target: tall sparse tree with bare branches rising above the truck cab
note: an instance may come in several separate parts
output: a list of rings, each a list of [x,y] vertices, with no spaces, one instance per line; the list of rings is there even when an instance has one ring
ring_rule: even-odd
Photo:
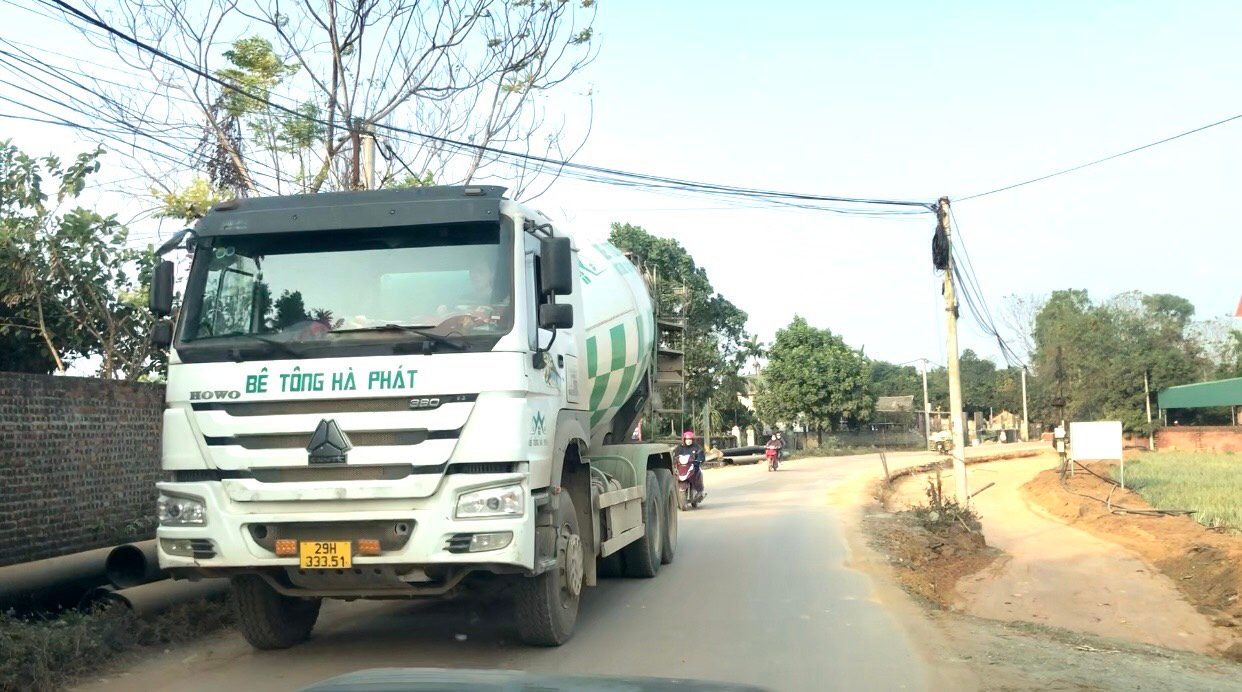
[[[493,175],[520,195],[559,171],[497,150],[568,159],[590,130],[570,137],[545,96],[594,60],[596,0],[117,5],[89,12],[185,63],[79,25],[134,71],[129,87],[92,84],[88,106],[142,148],[166,145],[135,158],[161,189],[188,163],[230,195],[354,189],[374,132],[385,181]],[[197,140],[193,159],[169,139]]]

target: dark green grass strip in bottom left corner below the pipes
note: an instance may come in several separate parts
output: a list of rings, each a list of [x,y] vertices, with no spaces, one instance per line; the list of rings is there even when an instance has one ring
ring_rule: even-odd
[[[123,608],[55,617],[0,612],[0,692],[63,690],[120,655],[190,641],[231,622],[227,601],[188,603],[147,619]]]

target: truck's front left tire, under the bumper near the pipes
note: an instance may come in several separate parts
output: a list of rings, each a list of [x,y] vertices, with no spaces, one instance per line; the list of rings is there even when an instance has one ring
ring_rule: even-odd
[[[237,627],[255,649],[288,649],[310,639],[319,619],[319,599],[286,596],[262,576],[243,574],[231,580]]]

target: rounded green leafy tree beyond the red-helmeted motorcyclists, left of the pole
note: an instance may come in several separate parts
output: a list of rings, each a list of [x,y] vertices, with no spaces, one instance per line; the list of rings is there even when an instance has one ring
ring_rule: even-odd
[[[869,384],[871,364],[862,353],[794,317],[776,332],[755,404],[765,422],[805,422],[822,444],[825,427],[868,420],[876,407]]]

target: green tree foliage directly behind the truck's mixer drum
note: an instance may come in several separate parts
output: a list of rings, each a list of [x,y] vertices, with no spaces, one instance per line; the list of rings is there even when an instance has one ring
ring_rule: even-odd
[[[612,224],[612,245],[642,258],[656,277],[653,299],[662,316],[686,317],[686,399],[689,411],[699,411],[710,399],[712,407],[737,411],[737,395],[745,393],[738,375],[749,352],[746,313],[715,292],[707,271],[679,242],[658,237],[638,226]],[[730,426],[732,417],[724,422]]]

